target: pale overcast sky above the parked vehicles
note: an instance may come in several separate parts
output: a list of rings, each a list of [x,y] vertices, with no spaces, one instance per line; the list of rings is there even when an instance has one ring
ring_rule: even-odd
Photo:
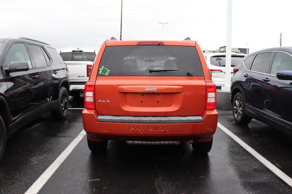
[[[121,0],[0,0],[0,37],[28,37],[60,49],[94,49],[120,36]],[[183,40],[226,45],[226,0],[124,0],[122,40]],[[233,0],[232,47],[292,46],[292,1]]]

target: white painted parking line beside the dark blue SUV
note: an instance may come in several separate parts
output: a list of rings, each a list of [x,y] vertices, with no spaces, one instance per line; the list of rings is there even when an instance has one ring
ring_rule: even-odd
[[[227,135],[229,135],[232,139],[234,139],[239,145],[241,145],[246,151],[248,151],[251,155],[253,155],[256,159],[258,159],[263,165],[265,165],[268,169],[274,172],[280,179],[282,179],[285,183],[292,187],[292,179],[288,177],[284,172],[282,172],[275,165],[270,163],[267,159],[265,159],[262,155],[260,155],[256,150],[252,149],[246,143],[244,143],[241,139],[239,139],[236,135],[234,135],[231,131],[226,129],[222,124],[218,123],[217,126],[222,129]]]

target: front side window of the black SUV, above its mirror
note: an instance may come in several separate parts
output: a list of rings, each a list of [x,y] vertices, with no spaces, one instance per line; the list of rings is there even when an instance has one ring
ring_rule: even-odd
[[[29,68],[32,68],[31,60],[23,43],[16,43],[10,47],[5,58],[5,66],[9,67],[12,61],[27,62]]]

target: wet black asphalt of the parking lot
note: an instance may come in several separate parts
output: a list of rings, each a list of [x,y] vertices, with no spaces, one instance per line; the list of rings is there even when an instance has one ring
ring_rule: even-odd
[[[83,98],[70,97],[70,108]],[[234,122],[220,111],[224,127],[292,177],[292,138],[262,122]],[[0,163],[0,192],[24,193],[83,130],[81,110],[65,120],[50,113],[16,132]],[[98,179],[98,180],[95,180]],[[93,180],[93,181],[92,181]],[[40,193],[291,193],[284,181],[220,128],[209,154],[195,155],[188,142],[142,146],[109,141],[107,152],[92,154],[84,137]]]

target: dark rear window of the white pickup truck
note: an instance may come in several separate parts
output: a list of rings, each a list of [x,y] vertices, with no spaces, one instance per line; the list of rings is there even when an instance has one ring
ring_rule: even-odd
[[[60,53],[64,61],[94,61],[95,52],[64,52]]]

